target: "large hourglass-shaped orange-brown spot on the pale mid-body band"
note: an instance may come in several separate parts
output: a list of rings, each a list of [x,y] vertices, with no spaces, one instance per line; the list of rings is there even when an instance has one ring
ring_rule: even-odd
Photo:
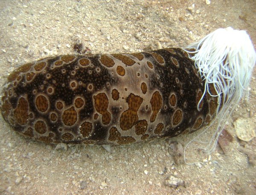
[[[130,129],[138,121],[137,111],[143,99],[140,96],[130,94],[126,99],[129,109],[122,113],[120,117],[120,127],[122,130]]]

